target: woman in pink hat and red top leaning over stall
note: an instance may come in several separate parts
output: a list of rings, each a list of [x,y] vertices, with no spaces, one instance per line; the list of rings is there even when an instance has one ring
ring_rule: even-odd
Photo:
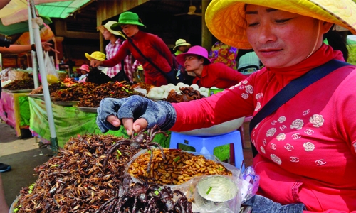
[[[194,72],[196,77],[193,84],[198,84],[199,87],[226,89],[246,79],[246,75],[221,62],[211,63],[208,56],[208,51],[201,46],[193,46],[187,53],[177,55],[177,62],[187,72]]]

